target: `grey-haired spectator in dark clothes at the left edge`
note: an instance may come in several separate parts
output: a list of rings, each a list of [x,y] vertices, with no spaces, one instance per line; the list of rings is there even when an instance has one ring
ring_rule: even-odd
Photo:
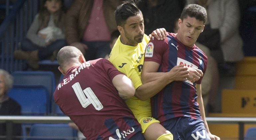
[[[21,106],[7,95],[12,85],[13,77],[7,71],[0,69],[0,115],[21,115]],[[12,134],[21,136],[21,124],[13,125]],[[0,123],[0,136],[5,135],[6,124]]]

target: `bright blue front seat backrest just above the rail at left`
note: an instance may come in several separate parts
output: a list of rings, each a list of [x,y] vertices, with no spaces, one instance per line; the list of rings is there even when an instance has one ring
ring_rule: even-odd
[[[22,115],[50,113],[49,93],[42,85],[14,85],[7,94],[21,105]]]

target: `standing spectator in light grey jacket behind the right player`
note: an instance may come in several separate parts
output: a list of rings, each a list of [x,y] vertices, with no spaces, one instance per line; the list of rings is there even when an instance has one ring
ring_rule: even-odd
[[[215,112],[215,95],[219,77],[234,76],[235,64],[243,59],[243,41],[239,34],[240,10],[237,0],[187,0],[187,4],[199,4],[208,13],[204,31],[197,42],[210,49],[213,65],[212,84],[209,91],[208,111]]]

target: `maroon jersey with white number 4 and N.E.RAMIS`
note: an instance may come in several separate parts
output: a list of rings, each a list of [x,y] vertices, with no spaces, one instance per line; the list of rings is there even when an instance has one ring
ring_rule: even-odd
[[[72,67],[56,87],[54,100],[86,139],[127,140],[141,126],[119,97],[112,79],[119,72],[100,58]]]

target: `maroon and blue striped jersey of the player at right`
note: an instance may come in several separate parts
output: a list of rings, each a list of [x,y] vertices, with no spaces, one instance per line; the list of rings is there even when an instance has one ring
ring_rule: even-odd
[[[158,72],[168,72],[176,65],[185,64],[204,73],[207,66],[204,52],[196,45],[183,45],[174,33],[167,33],[167,38],[162,41],[152,38],[146,48],[145,61],[159,63]],[[201,81],[202,77],[195,83],[188,80],[171,82],[151,98],[153,117],[160,122],[180,116],[201,120],[195,87]]]

